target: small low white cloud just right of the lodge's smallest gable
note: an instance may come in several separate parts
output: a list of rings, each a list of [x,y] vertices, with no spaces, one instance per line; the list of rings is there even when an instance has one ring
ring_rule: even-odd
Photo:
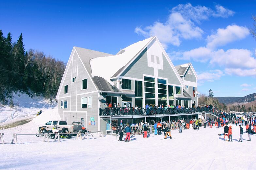
[[[205,81],[213,82],[214,80],[218,80],[223,75],[224,74],[221,70],[210,70],[209,72],[202,72],[198,74],[198,79],[199,82],[202,84]]]

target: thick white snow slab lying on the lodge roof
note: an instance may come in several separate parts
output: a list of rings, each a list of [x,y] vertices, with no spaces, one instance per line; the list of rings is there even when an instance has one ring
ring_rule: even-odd
[[[110,78],[123,66],[125,66],[146,44],[154,37],[134,43],[126,48],[124,52],[115,56],[98,57],[90,60],[91,76],[99,76],[107,80],[111,85],[114,83]],[[100,69],[99,69],[100,68]]]

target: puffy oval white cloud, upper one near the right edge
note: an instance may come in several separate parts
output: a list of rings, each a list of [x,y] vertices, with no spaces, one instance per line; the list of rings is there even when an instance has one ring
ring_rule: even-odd
[[[249,34],[246,27],[238,25],[229,25],[225,29],[219,28],[216,33],[207,36],[207,48],[224,46],[235,40],[241,40]]]

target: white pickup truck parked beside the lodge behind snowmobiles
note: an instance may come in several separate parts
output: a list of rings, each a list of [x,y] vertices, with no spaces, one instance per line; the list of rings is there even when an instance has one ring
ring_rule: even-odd
[[[44,128],[46,128],[46,130],[52,130],[55,126],[59,126],[60,129],[62,129],[63,127],[65,129],[68,129],[68,132],[82,132],[82,125],[78,125],[78,124],[67,124],[66,121],[60,121],[60,120],[52,120],[47,122],[46,124],[39,124],[38,125],[38,132],[41,131],[42,126],[44,126]],[[45,127],[46,126],[46,127]]]

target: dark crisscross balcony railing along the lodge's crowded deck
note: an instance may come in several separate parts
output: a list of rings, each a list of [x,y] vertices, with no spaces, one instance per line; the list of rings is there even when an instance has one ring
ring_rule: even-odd
[[[155,114],[186,114],[212,112],[212,108],[99,108],[100,116],[136,116],[136,115],[155,115]]]

